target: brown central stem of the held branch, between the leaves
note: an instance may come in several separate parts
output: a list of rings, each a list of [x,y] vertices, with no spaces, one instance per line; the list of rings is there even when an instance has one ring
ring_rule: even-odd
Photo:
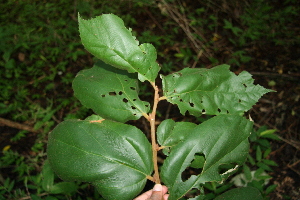
[[[155,85],[154,82],[150,82],[152,87],[154,88],[154,102],[153,102],[153,109],[152,113],[149,114],[149,122],[151,127],[151,143],[152,143],[152,159],[153,159],[153,166],[154,166],[154,182],[160,183],[159,172],[158,172],[158,165],[157,165],[157,151],[159,150],[158,144],[156,143],[156,131],[155,131],[155,115],[157,104],[159,102],[159,94],[158,94],[158,87]]]

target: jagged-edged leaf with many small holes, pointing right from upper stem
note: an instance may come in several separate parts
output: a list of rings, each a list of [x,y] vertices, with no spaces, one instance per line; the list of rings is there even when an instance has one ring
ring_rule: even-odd
[[[248,72],[236,76],[229,65],[212,69],[185,68],[162,79],[167,101],[177,104],[181,114],[189,111],[195,116],[241,114],[271,91],[254,85]]]

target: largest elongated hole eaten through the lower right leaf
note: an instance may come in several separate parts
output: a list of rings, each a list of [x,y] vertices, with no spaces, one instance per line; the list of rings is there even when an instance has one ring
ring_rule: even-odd
[[[203,153],[196,153],[190,166],[181,173],[182,181],[188,180],[192,175],[200,174],[205,164],[205,160],[205,155]]]

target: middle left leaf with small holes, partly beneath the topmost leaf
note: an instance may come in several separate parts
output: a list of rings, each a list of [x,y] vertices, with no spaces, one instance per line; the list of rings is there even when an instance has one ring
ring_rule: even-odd
[[[80,71],[73,81],[74,95],[87,108],[105,119],[126,122],[149,111],[149,103],[138,97],[134,74],[103,62]]]

